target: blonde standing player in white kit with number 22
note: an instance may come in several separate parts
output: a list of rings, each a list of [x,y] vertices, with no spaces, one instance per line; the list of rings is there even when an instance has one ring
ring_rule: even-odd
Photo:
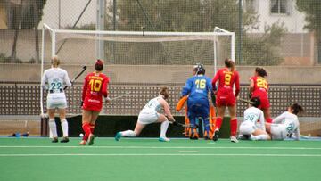
[[[63,86],[71,86],[70,78],[66,70],[59,68],[60,60],[58,56],[51,59],[52,67],[45,70],[41,80],[41,86],[47,90],[47,111],[49,115],[49,128],[53,134],[53,143],[58,142],[57,128],[54,122],[54,112],[58,109],[62,125],[62,143],[69,142],[68,122],[66,120],[67,101],[63,91]],[[46,86],[46,84],[48,86]]]

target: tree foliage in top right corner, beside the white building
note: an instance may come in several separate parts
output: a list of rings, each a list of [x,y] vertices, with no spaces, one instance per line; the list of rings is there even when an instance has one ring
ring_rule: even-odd
[[[321,2],[319,0],[297,0],[296,5],[300,12],[306,14],[305,20],[307,24],[305,29],[315,32],[317,47],[321,46]],[[317,53],[317,56],[320,63],[321,54],[319,53]]]

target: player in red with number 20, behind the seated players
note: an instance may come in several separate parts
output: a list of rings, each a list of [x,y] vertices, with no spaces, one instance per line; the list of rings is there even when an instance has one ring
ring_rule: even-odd
[[[268,73],[263,68],[257,67],[254,76],[250,78],[250,98],[258,97],[259,109],[263,111],[266,122],[271,123],[270,103],[268,101],[268,81],[265,79]]]

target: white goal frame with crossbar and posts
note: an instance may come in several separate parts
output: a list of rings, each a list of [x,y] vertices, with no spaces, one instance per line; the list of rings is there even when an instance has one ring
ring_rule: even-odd
[[[48,36],[45,36],[49,32],[50,37],[48,39]],[[222,40],[222,38],[225,38]],[[45,41],[46,38],[46,41]],[[46,59],[50,59],[49,56],[53,56],[57,53],[57,49],[60,49],[62,47],[62,41],[65,40],[75,40],[80,39],[79,42],[82,42],[84,40],[86,41],[93,41],[95,44],[91,44],[90,46],[87,45],[86,47],[93,48],[94,51],[98,51],[96,47],[93,47],[96,45],[97,41],[104,41],[104,42],[112,42],[112,43],[140,43],[140,44],[150,44],[150,43],[158,43],[161,45],[170,44],[172,42],[201,42],[201,41],[207,41],[210,43],[207,43],[205,48],[209,49],[206,53],[211,53],[211,55],[208,55],[210,57],[210,61],[213,64],[213,70],[216,72],[218,69],[218,60],[221,60],[223,57],[231,58],[232,60],[235,60],[235,33],[227,31],[226,29],[220,29],[216,27],[213,32],[157,32],[157,31],[98,31],[98,30],[76,30],[76,29],[53,29],[47,24],[43,24],[42,29],[42,44],[41,44],[41,77],[43,76],[44,71],[44,65],[48,64],[49,62],[45,62]],[[50,42],[48,42],[50,41]],[[58,47],[58,44],[60,44],[60,47]],[[210,45],[211,44],[211,45]],[[75,46],[81,46],[82,43],[75,44]],[[51,46],[50,48],[48,48]],[[170,45],[167,49],[165,49],[165,52],[169,53],[171,55],[172,52],[170,52],[175,45]],[[184,45],[180,45],[184,46]],[[190,46],[187,45],[186,46]],[[147,45],[148,47],[148,45]],[[197,45],[195,45],[197,47]],[[49,50],[48,50],[49,49]],[[66,48],[67,49],[67,48]],[[126,49],[126,48],[124,48]],[[184,47],[183,50],[180,53],[184,53]],[[228,50],[227,50],[228,49]],[[70,49],[68,49],[69,51]],[[66,51],[67,53],[69,53]],[[188,52],[189,50],[186,50],[185,52]],[[46,52],[46,53],[45,53]],[[49,53],[50,52],[50,55]],[[193,51],[190,51],[192,54]],[[148,53],[153,53],[152,51],[149,51]],[[220,53],[224,55],[220,56]],[[202,54],[202,53],[200,53]],[[78,54],[77,54],[78,55]],[[197,57],[199,54],[195,54]],[[58,53],[58,56],[61,57],[61,53]],[[93,57],[96,57],[96,53]],[[78,59],[81,59],[81,55],[78,55]],[[67,58],[65,58],[67,59]],[[197,59],[197,58],[195,58]],[[68,59],[70,61],[70,59]],[[174,61],[176,64],[179,64],[180,61],[185,61],[185,57],[179,57],[179,53],[176,53],[175,55],[171,55],[170,61]],[[198,59],[202,60],[202,59]],[[150,63],[150,61],[145,61]],[[75,64],[70,62],[71,64]],[[78,64],[87,64],[87,62],[78,62]],[[131,62],[133,63],[133,62]],[[135,63],[135,62],[134,62]],[[169,62],[170,65],[171,62]],[[192,62],[189,62],[192,64]],[[201,62],[202,63],[202,62]],[[211,64],[210,63],[210,64]],[[123,62],[122,64],[132,65],[130,63]],[[157,63],[156,63],[157,64]],[[140,65],[144,65],[144,62],[141,62]],[[184,65],[184,63],[182,63]],[[44,105],[43,105],[43,90],[40,87],[40,105],[41,105],[41,113],[44,113]]]

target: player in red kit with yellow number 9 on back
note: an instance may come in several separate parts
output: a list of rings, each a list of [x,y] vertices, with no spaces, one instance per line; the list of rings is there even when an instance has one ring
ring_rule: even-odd
[[[218,70],[215,77],[212,79],[212,86],[215,87],[218,81],[218,91],[216,104],[218,107],[218,118],[216,120],[216,129],[213,136],[213,141],[218,141],[219,129],[221,128],[223,117],[226,107],[231,117],[231,142],[237,143],[236,131],[237,131],[237,119],[236,119],[236,98],[240,92],[240,77],[235,70],[235,62],[231,59],[224,61],[225,68]],[[235,85],[235,94],[233,86]]]

